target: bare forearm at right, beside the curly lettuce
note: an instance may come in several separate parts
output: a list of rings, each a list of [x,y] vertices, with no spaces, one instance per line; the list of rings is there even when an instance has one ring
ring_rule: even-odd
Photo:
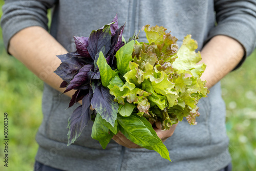
[[[201,51],[202,60],[207,67],[201,76],[210,89],[234,69],[244,56],[244,48],[237,41],[224,35],[212,37]]]

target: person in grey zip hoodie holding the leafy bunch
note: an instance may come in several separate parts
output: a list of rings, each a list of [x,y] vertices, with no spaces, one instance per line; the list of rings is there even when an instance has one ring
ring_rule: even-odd
[[[50,34],[49,8],[53,8]],[[74,92],[59,96],[63,89],[59,88],[61,78],[53,73],[60,64],[56,55],[75,51],[73,36],[89,36],[116,13],[119,24],[126,22],[125,39],[146,24],[168,28],[179,47],[183,37],[191,34],[198,42],[201,62],[207,65],[201,78],[210,93],[199,100],[198,124],[183,121],[170,131],[156,129],[172,162],[155,151],[136,148],[121,135],[114,138],[119,144],[111,140],[102,149],[91,138],[92,122],[67,146],[67,120],[79,104],[65,110]],[[45,82],[35,170],[231,169],[220,80],[240,67],[256,46],[255,1],[6,0],[1,26],[6,50]],[[146,41],[143,32],[139,40]]]

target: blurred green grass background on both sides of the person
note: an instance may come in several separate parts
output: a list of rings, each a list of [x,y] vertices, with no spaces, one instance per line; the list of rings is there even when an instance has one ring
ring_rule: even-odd
[[[0,16],[3,1],[0,1]],[[0,33],[2,33],[0,29]],[[233,170],[256,170],[256,51],[222,80]],[[0,36],[0,170],[33,170],[35,134],[42,119],[42,81],[4,50]],[[8,168],[3,164],[3,120],[8,113]],[[220,161],[221,162],[221,161]]]

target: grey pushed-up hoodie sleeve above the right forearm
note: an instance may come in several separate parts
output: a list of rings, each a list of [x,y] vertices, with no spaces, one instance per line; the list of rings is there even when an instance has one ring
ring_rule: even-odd
[[[256,47],[256,1],[215,0],[217,26],[210,30],[209,37],[226,35],[236,39],[245,49],[243,63]]]

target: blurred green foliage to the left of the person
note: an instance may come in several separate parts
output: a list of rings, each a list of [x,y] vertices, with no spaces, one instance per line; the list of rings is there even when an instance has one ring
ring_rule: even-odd
[[[2,16],[3,1],[0,1]],[[0,28],[1,29],[1,28]],[[38,145],[35,134],[42,120],[42,81],[22,63],[9,56],[0,37],[0,156],[3,151],[4,113],[8,113],[8,167],[1,160],[0,170],[33,170]],[[2,158],[3,159],[3,158]]]

